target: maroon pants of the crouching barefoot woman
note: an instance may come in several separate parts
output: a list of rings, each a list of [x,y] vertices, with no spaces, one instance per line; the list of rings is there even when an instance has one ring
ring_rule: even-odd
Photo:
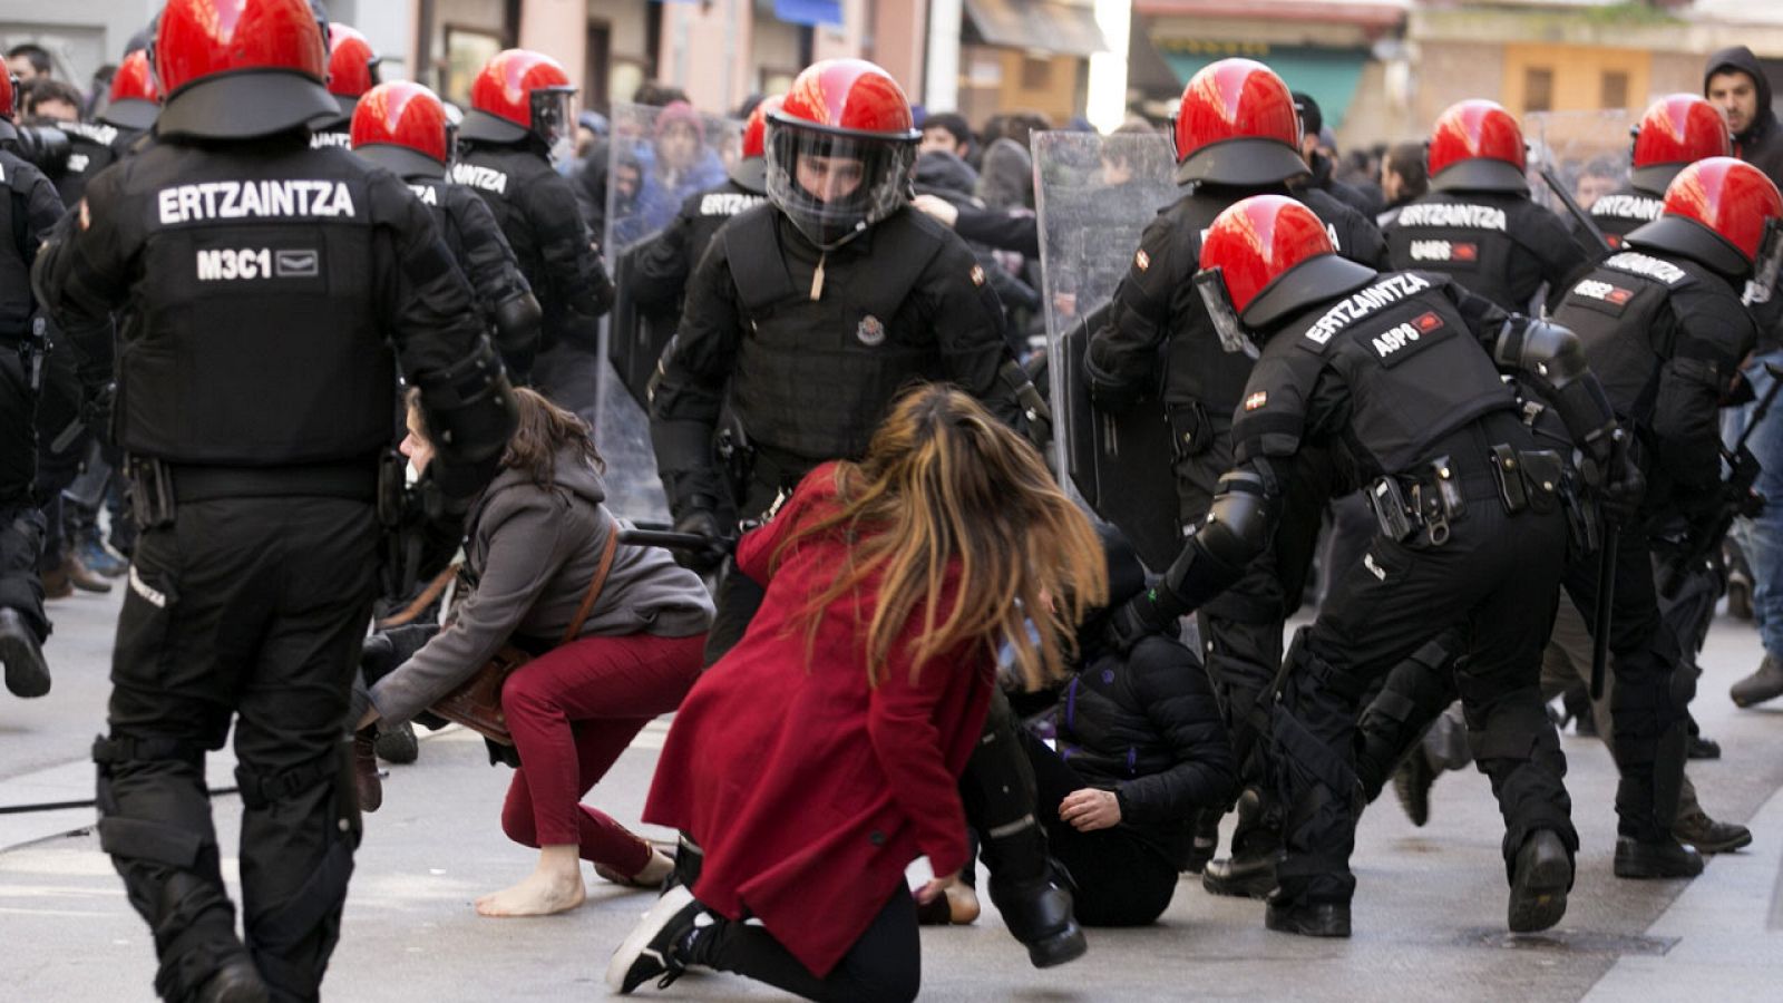
[[[574,842],[583,860],[637,875],[651,844],[581,803],[653,717],[681,705],[699,676],[706,635],[579,637],[519,669],[501,710],[522,766],[501,830],[524,846]]]

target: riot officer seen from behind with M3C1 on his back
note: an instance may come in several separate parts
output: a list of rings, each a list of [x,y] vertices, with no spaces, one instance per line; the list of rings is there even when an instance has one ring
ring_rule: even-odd
[[[358,842],[344,742],[374,593],[396,346],[446,509],[514,428],[501,361],[433,220],[389,171],[314,150],[339,114],[303,0],[173,0],[155,139],[93,178],[36,287],[112,371],[143,525],[94,742],[100,844],[169,999],[316,999]],[[244,939],[205,751],[234,719]]]

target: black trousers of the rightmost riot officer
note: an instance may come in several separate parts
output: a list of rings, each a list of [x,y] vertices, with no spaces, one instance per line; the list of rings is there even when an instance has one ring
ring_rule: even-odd
[[[1696,676],[1680,671],[1683,642],[1696,623],[1667,628],[1653,582],[1653,548],[1639,525],[1617,537],[1615,596],[1610,607],[1610,717],[1621,782],[1615,830],[1642,841],[1669,839],[1689,748],[1689,703]],[[1596,555],[1574,560],[1567,596],[1589,625],[1598,598]],[[1685,618],[1689,619],[1689,618]]]

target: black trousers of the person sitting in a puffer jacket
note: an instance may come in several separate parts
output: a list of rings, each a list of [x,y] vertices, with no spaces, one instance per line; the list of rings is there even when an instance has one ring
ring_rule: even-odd
[[[1061,819],[1059,801],[1093,785],[1027,730],[1022,730],[1022,746],[1034,764],[1036,810],[1047,826],[1052,857],[1077,885],[1072,896],[1077,921],[1084,926],[1155,923],[1177,894],[1177,864],[1125,825],[1079,832]]]

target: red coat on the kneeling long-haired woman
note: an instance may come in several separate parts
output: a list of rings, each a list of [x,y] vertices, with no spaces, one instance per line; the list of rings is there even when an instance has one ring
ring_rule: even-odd
[[[772,576],[768,557],[833,503],[826,464],[742,539],[736,564],[767,584],[767,598],[676,712],[644,808],[645,821],[688,832],[706,851],[699,901],[731,919],[760,917],[818,976],[867,932],[911,860],[927,855],[936,875],[970,864],[957,785],[995,678],[984,646],[974,646],[929,660],[911,685],[899,646],[868,687],[874,582],[859,605],[824,610],[806,662],[797,614],[834,580],[847,548],[836,535],[808,539]],[[920,618],[918,605],[911,623]]]

